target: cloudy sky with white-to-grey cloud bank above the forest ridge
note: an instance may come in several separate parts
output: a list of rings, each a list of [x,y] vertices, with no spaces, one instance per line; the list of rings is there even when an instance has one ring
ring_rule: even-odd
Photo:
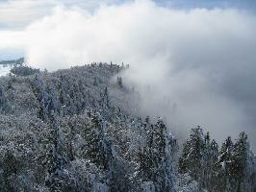
[[[255,1],[0,1],[0,60],[35,67],[130,64],[140,115],[223,141],[247,132],[256,149]]]

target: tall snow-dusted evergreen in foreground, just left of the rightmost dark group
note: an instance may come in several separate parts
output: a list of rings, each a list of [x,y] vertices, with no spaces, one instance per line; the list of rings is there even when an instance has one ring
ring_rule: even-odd
[[[147,145],[139,155],[141,180],[153,181],[156,191],[174,191],[171,146],[169,145],[171,142],[168,141],[166,125],[162,119],[151,127],[148,134]]]

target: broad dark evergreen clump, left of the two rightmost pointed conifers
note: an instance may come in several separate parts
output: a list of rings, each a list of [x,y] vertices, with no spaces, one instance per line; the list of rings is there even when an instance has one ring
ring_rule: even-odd
[[[217,160],[218,144],[215,140],[211,141],[210,133],[205,135],[199,126],[192,129],[179,159],[180,173],[189,174],[192,180],[196,180],[199,190],[205,188],[211,191],[218,179],[215,174]]]

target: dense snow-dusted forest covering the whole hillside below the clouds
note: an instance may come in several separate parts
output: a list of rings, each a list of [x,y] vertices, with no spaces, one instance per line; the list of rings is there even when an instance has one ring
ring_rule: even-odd
[[[182,143],[161,117],[127,110],[139,93],[126,67],[20,66],[1,77],[0,191],[256,191],[245,132],[218,146],[198,126]]]

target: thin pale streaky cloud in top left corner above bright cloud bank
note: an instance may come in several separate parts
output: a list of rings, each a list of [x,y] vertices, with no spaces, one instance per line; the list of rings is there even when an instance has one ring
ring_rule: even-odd
[[[56,7],[83,8],[93,12],[100,5],[117,0],[8,0],[0,1],[0,29],[22,29],[31,22],[48,15]]]

